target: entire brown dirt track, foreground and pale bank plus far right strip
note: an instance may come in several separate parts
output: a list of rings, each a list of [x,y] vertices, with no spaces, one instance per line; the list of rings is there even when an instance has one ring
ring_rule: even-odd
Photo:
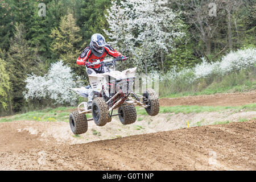
[[[245,105],[256,103],[255,98],[256,92],[216,94],[162,99],[160,105]],[[207,125],[214,119],[239,121],[240,117],[250,121],[178,129],[186,127],[187,118],[191,126],[196,126],[203,118],[207,118]],[[0,169],[256,170],[255,117],[255,111],[167,113],[127,126],[116,120],[104,127],[89,123],[88,132],[81,138],[73,136],[67,122],[0,123]],[[147,134],[134,129],[137,125],[147,127]],[[100,131],[101,136],[93,135],[92,129]],[[106,140],[109,133],[132,136]]]

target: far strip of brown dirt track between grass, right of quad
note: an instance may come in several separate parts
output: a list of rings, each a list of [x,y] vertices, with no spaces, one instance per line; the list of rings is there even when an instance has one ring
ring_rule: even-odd
[[[209,96],[186,96],[162,98],[160,106],[199,105],[199,106],[239,106],[256,103],[256,91],[243,93],[221,93]]]

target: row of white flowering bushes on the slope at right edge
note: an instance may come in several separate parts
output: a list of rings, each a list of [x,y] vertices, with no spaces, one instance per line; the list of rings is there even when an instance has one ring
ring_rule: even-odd
[[[238,72],[251,67],[256,67],[255,48],[232,51],[214,63],[208,63],[203,57],[202,62],[194,68],[182,69],[179,72],[173,68],[165,74],[160,73],[159,77],[160,82],[168,86],[170,90],[182,90],[183,88],[188,90],[201,78],[223,77],[234,71]]]

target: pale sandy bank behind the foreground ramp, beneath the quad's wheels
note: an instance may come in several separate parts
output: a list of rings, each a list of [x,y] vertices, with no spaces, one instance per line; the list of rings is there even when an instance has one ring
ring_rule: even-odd
[[[159,131],[170,131],[187,127],[212,125],[219,122],[239,122],[256,118],[256,111],[221,111],[204,113],[159,113],[154,117],[138,115],[131,125],[122,125],[118,117],[104,127],[88,122],[85,134],[74,135],[68,122],[14,121],[0,123],[0,151],[19,151],[37,148],[46,143],[81,144],[97,140],[129,137]]]

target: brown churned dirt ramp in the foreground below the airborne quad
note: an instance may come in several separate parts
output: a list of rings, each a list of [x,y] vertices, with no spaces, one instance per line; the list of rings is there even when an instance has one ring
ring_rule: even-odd
[[[8,123],[2,124],[7,126]],[[16,133],[8,131],[3,134],[2,124],[0,138],[3,135],[6,135],[6,138],[1,139],[0,146],[7,142],[13,143],[14,146],[8,150],[5,150],[5,147],[0,148],[0,169],[256,169],[255,120],[83,144],[57,144],[52,137],[49,137],[48,141],[42,140],[41,131],[35,131],[29,126],[27,130],[17,131],[15,128]],[[59,124],[56,122],[56,125]],[[19,144],[11,138],[20,138]],[[31,146],[29,143],[32,143]],[[23,144],[24,147],[20,147]]]

